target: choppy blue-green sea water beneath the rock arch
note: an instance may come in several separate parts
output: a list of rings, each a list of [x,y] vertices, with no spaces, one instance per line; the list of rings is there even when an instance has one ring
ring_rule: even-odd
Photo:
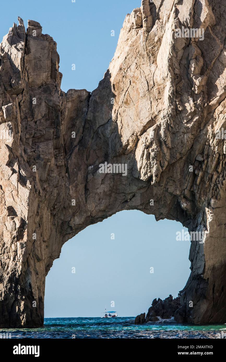
[[[173,319],[134,324],[135,317],[45,318],[43,328],[4,329],[11,338],[219,338],[226,325],[177,324]],[[225,334],[226,336],[226,334]]]

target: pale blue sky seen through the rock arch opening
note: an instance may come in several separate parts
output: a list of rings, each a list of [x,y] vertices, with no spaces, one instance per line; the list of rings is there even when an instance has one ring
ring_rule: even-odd
[[[105,306],[135,317],[155,298],[176,297],[190,274],[181,230],[138,210],[87,227],[63,245],[46,277],[45,317],[99,317]]]

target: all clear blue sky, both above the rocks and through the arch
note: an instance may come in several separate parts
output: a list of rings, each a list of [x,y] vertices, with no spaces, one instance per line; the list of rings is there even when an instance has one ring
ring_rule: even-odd
[[[5,1],[0,38],[13,22],[18,24],[17,16],[25,26],[28,19],[40,22],[42,32],[57,42],[62,90],[92,91],[114,56],[126,14],[140,4],[141,0]],[[154,298],[177,296],[190,273],[190,242],[176,241],[181,229],[180,223],[156,222],[153,215],[140,211],[122,211],[87,227],[63,246],[49,271],[45,317],[100,316],[105,305],[120,316],[136,316],[147,312]]]

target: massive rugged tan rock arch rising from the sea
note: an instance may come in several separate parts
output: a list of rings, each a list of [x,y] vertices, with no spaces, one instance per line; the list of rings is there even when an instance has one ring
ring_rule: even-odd
[[[204,39],[176,37],[182,26]],[[225,40],[223,0],[143,0],[98,88],[64,93],[56,42],[13,24],[0,45],[0,327],[41,327],[62,245],[131,209],[203,232],[175,317],[226,322]],[[100,173],[105,162],[127,174]]]

